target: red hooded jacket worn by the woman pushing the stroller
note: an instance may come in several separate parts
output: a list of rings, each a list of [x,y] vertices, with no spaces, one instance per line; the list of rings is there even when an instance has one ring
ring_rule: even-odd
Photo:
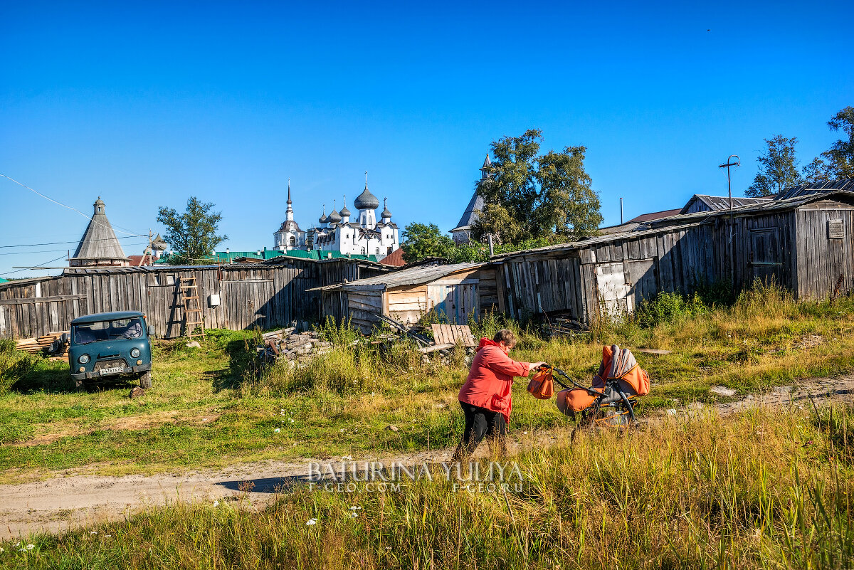
[[[500,412],[510,422],[513,376],[527,376],[529,363],[516,362],[494,340],[481,339],[471,372],[459,388],[459,401]]]

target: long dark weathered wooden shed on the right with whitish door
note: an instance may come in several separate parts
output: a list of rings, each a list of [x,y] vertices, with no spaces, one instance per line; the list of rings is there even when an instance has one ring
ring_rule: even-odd
[[[512,317],[590,323],[660,291],[775,281],[798,298],[854,289],[854,180],[801,186],[772,201],[652,221],[639,230],[496,256]],[[730,241],[730,230],[732,239]]]

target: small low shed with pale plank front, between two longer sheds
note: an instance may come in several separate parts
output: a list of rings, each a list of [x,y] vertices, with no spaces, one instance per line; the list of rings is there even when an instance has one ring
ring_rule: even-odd
[[[427,265],[317,290],[325,316],[351,318],[365,332],[379,323],[377,315],[414,324],[434,310],[450,323],[465,324],[470,317],[480,318],[483,311],[503,311],[496,267]]]

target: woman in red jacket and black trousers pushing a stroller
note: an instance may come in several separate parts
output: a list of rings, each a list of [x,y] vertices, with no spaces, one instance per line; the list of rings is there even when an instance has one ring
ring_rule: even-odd
[[[471,363],[469,377],[459,389],[459,405],[465,413],[463,440],[453,452],[452,461],[462,461],[475,451],[485,436],[506,453],[505,433],[512,408],[513,376],[527,376],[541,362],[517,362],[507,356],[516,337],[511,330],[495,333],[493,340],[484,337]]]

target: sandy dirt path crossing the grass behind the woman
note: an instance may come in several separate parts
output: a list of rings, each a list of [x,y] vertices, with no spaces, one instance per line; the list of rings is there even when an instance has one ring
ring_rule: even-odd
[[[806,407],[812,406],[810,396],[816,405],[822,405],[828,399],[854,401],[854,375],[814,378],[799,382],[795,387],[778,387],[767,394],[735,398],[731,402],[716,404],[715,408],[717,413],[728,416],[760,405],[792,403]],[[688,410],[670,410],[670,415],[690,415],[699,407],[694,405]],[[514,454],[531,445],[547,445],[551,439],[554,438],[550,434],[541,434],[535,442],[526,439],[524,444],[511,439],[510,452]],[[447,461],[451,451],[443,449],[402,456],[357,457],[356,460],[380,461],[386,465],[390,462],[420,465],[422,462]],[[336,457],[332,461],[340,465],[342,458]],[[0,486],[0,538],[18,537],[28,532],[61,532],[93,523],[120,521],[140,509],[176,501],[213,502],[241,496],[251,504],[262,506],[278,488],[306,481],[311,462],[319,463],[323,469],[330,460],[243,463],[220,471],[173,475],[75,475]]]

